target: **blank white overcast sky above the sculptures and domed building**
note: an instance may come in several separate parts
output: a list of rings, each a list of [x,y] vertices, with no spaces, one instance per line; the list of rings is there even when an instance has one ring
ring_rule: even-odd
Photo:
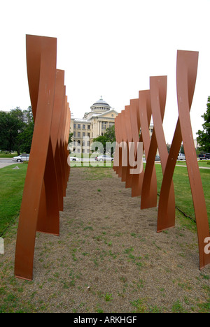
[[[178,117],[176,51],[199,51],[191,119],[193,134],[210,96],[210,0],[4,0],[0,4],[0,110],[30,106],[25,35],[57,38],[57,68],[65,71],[73,117],[103,99],[120,112],[167,75],[165,136]]]

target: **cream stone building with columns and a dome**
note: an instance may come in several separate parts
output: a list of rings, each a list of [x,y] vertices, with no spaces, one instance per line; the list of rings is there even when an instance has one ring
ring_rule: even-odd
[[[90,112],[85,112],[83,119],[71,117],[70,132],[73,133],[73,141],[81,145],[76,147],[77,153],[90,153],[92,140],[103,136],[106,129],[115,124],[115,118],[118,116],[118,112],[111,108],[102,96],[90,109]]]

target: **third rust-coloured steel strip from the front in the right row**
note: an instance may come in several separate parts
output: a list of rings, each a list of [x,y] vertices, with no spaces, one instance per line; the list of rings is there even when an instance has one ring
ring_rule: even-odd
[[[151,136],[149,126],[151,123],[151,95],[150,90],[139,91],[139,116],[141,122],[141,134],[144,143],[146,156],[146,166],[152,170],[151,178],[146,178],[144,172],[144,180],[141,191],[141,209],[153,208],[157,206],[157,179],[155,172],[155,161],[148,157],[151,147]],[[156,140],[155,137],[152,140]],[[156,145],[156,144],[155,144]],[[155,147],[152,143],[151,150]],[[146,170],[146,169],[145,169]],[[150,177],[150,176],[149,176]]]

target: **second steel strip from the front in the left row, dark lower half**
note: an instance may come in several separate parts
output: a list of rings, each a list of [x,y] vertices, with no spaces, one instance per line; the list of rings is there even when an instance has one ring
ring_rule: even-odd
[[[64,96],[64,71],[56,71],[55,96],[52,110],[52,124],[50,128],[50,143],[48,157],[45,166],[45,175],[42,189],[41,201],[45,201],[45,210],[39,210],[36,231],[59,235],[59,209],[62,204],[62,193],[60,193],[59,157],[55,156],[59,122],[61,117],[61,106]]]

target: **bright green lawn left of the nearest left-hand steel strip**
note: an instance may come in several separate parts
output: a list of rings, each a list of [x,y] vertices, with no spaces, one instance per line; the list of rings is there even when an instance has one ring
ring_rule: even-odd
[[[20,169],[13,170],[15,166],[0,169],[0,235],[20,211],[28,165],[21,164]]]

